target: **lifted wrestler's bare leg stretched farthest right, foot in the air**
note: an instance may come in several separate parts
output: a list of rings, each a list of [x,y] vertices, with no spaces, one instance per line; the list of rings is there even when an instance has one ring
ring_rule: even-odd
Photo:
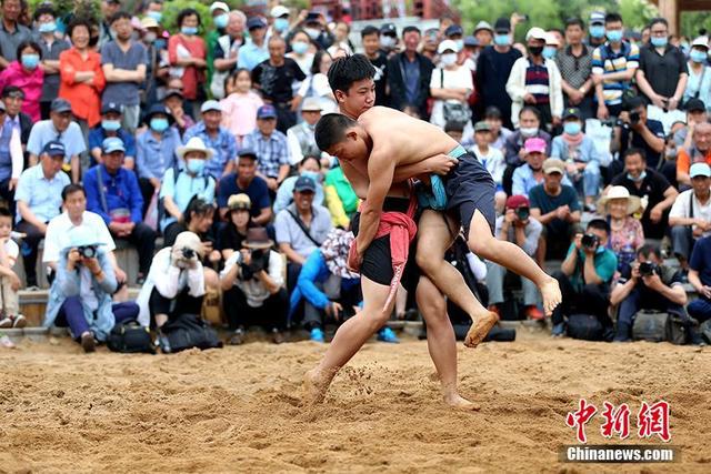
[[[495,239],[491,233],[489,222],[478,209],[471,218],[468,244],[469,249],[482,259],[505,266],[535,283],[543,296],[543,307],[547,315],[551,315],[555,306],[560,304],[562,296],[558,281],[541,270],[519,245]],[[471,331],[470,334],[472,334]],[[484,336],[485,334],[481,337]]]

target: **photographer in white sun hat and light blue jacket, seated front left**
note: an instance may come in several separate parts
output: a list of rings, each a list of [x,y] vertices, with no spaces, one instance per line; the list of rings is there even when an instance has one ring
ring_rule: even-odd
[[[134,302],[111,303],[117,289],[113,266],[94,232],[87,225],[71,229],[61,251],[57,278],[50,289],[43,326],[69,326],[84,352],[93,352],[117,323],[133,320]]]

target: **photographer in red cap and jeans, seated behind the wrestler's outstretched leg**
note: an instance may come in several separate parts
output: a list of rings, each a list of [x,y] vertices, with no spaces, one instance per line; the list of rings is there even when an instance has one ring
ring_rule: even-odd
[[[497,219],[497,238],[513,242],[525,253],[533,256],[538,250],[543,225],[531,219],[531,205],[524,195],[512,195],[507,200],[505,214]],[[507,269],[493,262],[487,262],[487,286],[489,288],[489,311],[500,314],[499,304],[503,303],[503,278]],[[538,307],[539,293],[535,284],[521,276],[525,316],[542,320],[543,312]]]

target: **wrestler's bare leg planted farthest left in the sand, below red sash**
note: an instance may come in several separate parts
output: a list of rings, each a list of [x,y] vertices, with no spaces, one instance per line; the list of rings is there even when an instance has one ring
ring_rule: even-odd
[[[390,286],[375,283],[362,275],[360,281],[363,290],[363,309],[341,324],[319,365],[306,374],[303,386],[307,403],[323,401],[326,391],[339,369],[346,365],[390,317],[393,302],[389,307],[383,309]]]

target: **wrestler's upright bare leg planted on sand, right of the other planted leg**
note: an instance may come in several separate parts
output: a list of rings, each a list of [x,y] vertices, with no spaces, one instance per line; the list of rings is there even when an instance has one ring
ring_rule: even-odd
[[[444,296],[427,276],[421,276],[415,297],[427,324],[427,346],[442,384],[444,403],[459,410],[479,410],[457,391],[457,339]]]

